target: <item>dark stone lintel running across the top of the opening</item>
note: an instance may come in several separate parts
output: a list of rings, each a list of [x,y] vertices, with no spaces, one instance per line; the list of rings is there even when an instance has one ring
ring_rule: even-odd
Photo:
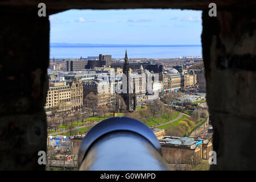
[[[1,1],[0,6],[6,7],[37,7],[41,0],[6,0]],[[213,1],[208,0],[44,0],[49,13],[56,13],[56,11],[65,11],[69,9],[142,9],[142,8],[158,8],[158,9],[191,9],[191,10],[206,10],[209,9],[209,3]],[[239,0],[216,0],[217,8],[224,9],[255,9],[256,2],[253,0],[239,1]],[[54,12],[55,11],[55,12]]]

